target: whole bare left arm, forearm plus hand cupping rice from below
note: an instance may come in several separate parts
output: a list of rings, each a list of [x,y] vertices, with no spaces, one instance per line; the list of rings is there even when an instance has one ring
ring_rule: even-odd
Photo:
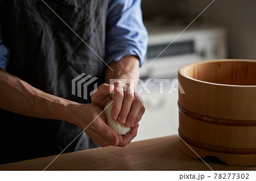
[[[100,107],[47,94],[1,69],[0,100],[0,108],[8,111],[45,119],[65,120],[82,129],[88,127],[85,132],[100,146],[126,146],[138,130],[137,126],[124,136],[118,136],[106,125],[106,117]]]

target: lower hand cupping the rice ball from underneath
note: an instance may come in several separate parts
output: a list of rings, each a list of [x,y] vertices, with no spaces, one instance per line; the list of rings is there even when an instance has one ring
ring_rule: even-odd
[[[85,129],[85,133],[93,139],[98,145],[104,146],[126,146],[137,135],[137,127],[131,128],[129,133],[125,135],[117,135],[117,133],[106,124],[105,114],[100,107],[93,104],[80,104],[74,110],[79,119],[79,127]],[[94,121],[93,121],[94,120]],[[93,121],[93,122],[92,122]],[[89,125],[89,126],[88,126]]]

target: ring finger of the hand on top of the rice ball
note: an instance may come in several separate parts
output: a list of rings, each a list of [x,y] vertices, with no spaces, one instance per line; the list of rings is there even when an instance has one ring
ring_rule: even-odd
[[[134,125],[134,122],[135,122],[142,106],[143,106],[143,101],[142,101],[141,97],[138,95],[135,95],[133,105],[131,106],[131,111],[130,111],[130,113],[127,117],[126,123],[125,123],[126,127],[131,127],[132,125]]]

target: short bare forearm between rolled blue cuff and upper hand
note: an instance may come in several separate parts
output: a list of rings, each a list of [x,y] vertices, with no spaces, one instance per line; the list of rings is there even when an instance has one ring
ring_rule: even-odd
[[[136,56],[125,56],[117,62],[112,62],[110,68],[106,69],[105,82],[110,83],[110,79],[130,79],[135,80],[135,87],[139,78],[139,60]]]

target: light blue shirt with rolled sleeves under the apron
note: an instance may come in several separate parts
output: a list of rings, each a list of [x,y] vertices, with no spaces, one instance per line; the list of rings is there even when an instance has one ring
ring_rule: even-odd
[[[105,47],[107,64],[126,55],[137,56],[140,66],[143,64],[147,50],[147,31],[142,22],[141,0],[109,1]],[[9,60],[10,50],[2,41],[0,24],[0,68],[6,70]]]

